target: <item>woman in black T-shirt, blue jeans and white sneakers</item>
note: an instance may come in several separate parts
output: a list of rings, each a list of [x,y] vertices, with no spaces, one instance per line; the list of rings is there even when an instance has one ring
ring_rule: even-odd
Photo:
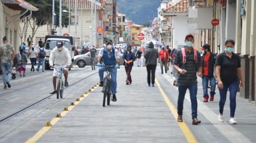
[[[223,108],[229,89],[230,124],[236,123],[234,116],[236,110],[236,92],[238,84],[240,89],[243,87],[241,62],[239,55],[234,53],[234,46],[234,40],[226,40],[225,51],[220,53],[216,59],[216,76],[218,78],[218,86],[220,91],[219,122],[224,122]],[[240,80],[237,78],[237,75]]]

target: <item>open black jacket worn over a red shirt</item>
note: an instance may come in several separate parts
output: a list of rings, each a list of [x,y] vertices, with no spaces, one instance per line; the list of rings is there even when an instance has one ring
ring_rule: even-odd
[[[215,76],[215,63],[216,63],[216,54],[215,53],[210,53],[210,57],[209,57],[209,67],[208,67],[208,76],[209,78],[213,78]],[[202,73],[203,73],[203,67],[204,67],[204,55],[202,56]]]

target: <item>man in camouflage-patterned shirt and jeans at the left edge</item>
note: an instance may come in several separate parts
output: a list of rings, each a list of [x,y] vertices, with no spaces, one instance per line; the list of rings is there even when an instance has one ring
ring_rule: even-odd
[[[16,52],[12,45],[8,44],[7,37],[3,38],[3,45],[0,45],[1,69],[3,75],[4,89],[11,88],[10,80],[12,78],[12,62]],[[6,80],[7,71],[7,80]]]

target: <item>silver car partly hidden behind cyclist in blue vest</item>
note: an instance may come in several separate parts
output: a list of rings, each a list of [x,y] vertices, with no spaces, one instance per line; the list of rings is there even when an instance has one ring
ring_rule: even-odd
[[[95,63],[97,63],[99,52],[100,52],[100,49],[97,49],[97,53],[96,53],[97,58],[95,58]],[[74,56],[74,65],[78,65],[78,67],[85,67],[86,65],[91,65],[91,58],[89,55],[90,55],[90,52],[87,52],[82,55]],[[123,57],[123,54],[120,53],[120,64],[119,65],[123,65],[122,57]]]

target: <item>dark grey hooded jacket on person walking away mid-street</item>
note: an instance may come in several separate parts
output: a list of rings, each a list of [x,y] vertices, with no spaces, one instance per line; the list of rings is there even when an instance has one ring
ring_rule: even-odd
[[[144,53],[144,58],[146,59],[146,65],[157,65],[158,52],[154,49],[153,42],[149,42],[148,49]]]

